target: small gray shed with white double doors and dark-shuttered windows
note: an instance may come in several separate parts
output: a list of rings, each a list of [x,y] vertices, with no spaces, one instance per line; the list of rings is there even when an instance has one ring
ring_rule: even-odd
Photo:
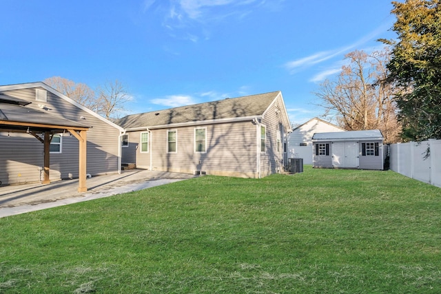
[[[384,169],[387,149],[378,129],[316,133],[313,167]]]

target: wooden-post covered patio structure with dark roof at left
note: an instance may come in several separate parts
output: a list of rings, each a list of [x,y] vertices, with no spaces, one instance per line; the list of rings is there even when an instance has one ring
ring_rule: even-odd
[[[28,101],[0,93],[0,132],[29,134],[43,144],[43,184],[50,183],[50,142],[54,134],[70,132],[72,136],[79,140],[78,191],[87,191],[86,132],[90,126],[27,107],[29,104]]]

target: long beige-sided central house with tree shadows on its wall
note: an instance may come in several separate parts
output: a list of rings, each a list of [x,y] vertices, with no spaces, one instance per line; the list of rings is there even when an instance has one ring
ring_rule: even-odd
[[[281,171],[291,132],[280,91],[133,114],[116,123],[126,130],[123,163],[244,178]]]

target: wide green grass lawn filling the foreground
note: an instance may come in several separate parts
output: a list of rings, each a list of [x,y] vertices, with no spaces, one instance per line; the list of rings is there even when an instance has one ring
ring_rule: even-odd
[[[0,293],[441,293],[441,189],[203,176],[0,219]]]

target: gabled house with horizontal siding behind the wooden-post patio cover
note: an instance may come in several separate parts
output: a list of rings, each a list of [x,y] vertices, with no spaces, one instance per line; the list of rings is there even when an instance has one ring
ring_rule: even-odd
[[[0,181],[2,185],[42,182],[44,136],[50,138],[50,180],[79,177],[79,133],[87,133],[85,171],[91,176],[116,173],[121,170],[119,147],[123,129],[92,110],[52,89],[45,83],[24,83],[0,86]],[[3,99],[3,100],[2,100]],[[9,101],[8,101],[9,100]],[[14,103],[14,104],[13,104]],[[11,106],[12,105],[12,106]],[[1,107],[8,114],[1,115]],[[8,115],[19,109],[23,120],[19,126],[8,127]],[[19,108],[21,107],[21,108]],[[25,119],[32,116],[35,120]],[[39,121],[41,120],[41,121]],[[43,121],[49,120],[49,121]],[[15,119],[15,121],[19,121]],[[63,122],[66,122],[63,124]],[[52,129],[41,129],[51,124]],[[68,127],[70,125],[71,127]],[[23,126],[27,129],[23,131]],[[39,129],[37,129],[39,127]],[[9,129],[8,129],[9,128]],[[87,132],[85,131],[87,129]],[[49,136],[50,135],[50,136]]]

